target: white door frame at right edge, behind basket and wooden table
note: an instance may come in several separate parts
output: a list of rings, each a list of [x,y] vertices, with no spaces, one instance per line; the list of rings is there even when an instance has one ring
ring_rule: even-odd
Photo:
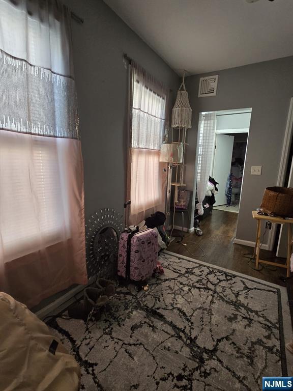
[[[276,186],[284,186],[292,134],[293,134],[293,97],[290,98],[290,105],[289,105],[286,130],[285,130],[285,136],[284,136],[284,142],[282,148],[282,155],[281,155],[281,161],[280,161]],[[273,224],[272,230],[269,231],[269,238],[268,238],[269,250],[272,250],[274,247],[275,238],[276,238],[276,229],[277,229],[276,224]]]

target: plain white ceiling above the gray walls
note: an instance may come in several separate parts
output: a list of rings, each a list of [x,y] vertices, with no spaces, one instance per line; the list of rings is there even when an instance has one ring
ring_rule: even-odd
[[[104,0],[176,72],[293,55],[293,0]]]

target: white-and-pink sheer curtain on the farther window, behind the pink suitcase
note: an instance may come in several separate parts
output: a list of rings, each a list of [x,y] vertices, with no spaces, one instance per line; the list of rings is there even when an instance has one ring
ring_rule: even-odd
[[[130,222],[165,210],[165,163],[159,162],[166,122],[167,90],[139,65],[132,63],[130,136]]]

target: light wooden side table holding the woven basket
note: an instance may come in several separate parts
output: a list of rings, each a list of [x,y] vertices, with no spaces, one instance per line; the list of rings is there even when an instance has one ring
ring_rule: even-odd
[[[252,217],[257,220],[256,240],[255,240],[255,247],[254,247],[254,253],[253,253],[253,258],[256,255],[255,268],[258,269],[259,263],[266,263],[267,265],[283,267],[283,268],[287,269],[287,277],[289,277],[289,275],[290,275],[290,258],[291,258],[291,252],[292,252],[293,219],[286,220],[282,217],[265,216],[262,214],[257,214],[256,210],[252,211]],[[270,262],[270,261],[265,261],[263,259],[259,259],[261,220],[271,221],[272,224],[288,224],[287,261],[285,264],[277,263],[277,262]]]

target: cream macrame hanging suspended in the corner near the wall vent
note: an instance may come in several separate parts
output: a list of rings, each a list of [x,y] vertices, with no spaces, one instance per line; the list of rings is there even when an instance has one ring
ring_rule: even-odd
[[[182,83],[177,92],[177,98],[172,109],[172,128],[191,128],[192,109],[189,104],[188,92],[184,84],[185,72],[183,73]]]

